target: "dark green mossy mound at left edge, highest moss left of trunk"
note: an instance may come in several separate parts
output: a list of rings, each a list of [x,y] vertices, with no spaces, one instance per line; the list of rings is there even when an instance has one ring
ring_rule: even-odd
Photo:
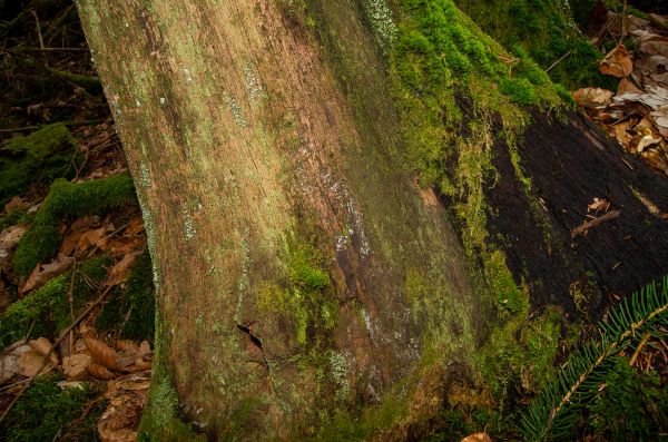
[[[0,206],[36,181],[75,175],[76,140],[63,124],[49,125],[0,147]]]

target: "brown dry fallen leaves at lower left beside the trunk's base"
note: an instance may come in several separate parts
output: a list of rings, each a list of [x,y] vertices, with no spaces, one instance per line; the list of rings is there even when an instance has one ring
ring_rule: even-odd
[[[109,405],[98,422],[100,440],[135,441],[150,386],[153,352],[148,341],[137,344],[121,340],[111,347],[92,337],[79,338],[73,352],[68,345],[53,350],[40,372],[51,347],[49,340],[40,337],[6,348],[0,357],[0,384],[53,370],[67,377],[58,384],[62,389],[79,387],[82,381],[106,382],[104,396]]]

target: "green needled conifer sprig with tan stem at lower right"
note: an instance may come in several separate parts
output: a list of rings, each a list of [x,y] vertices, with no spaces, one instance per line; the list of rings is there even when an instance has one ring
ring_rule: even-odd
[[[522,415],[522,434],[528,441],[566,439],[579,418],[577,411],[598,393],[607,362],[631,337],[656,332],[668,324],[668,275],[661,289],[651,283],[615,305],[599,323],[600,336],[573,353],[556,379],[537,396]]]

